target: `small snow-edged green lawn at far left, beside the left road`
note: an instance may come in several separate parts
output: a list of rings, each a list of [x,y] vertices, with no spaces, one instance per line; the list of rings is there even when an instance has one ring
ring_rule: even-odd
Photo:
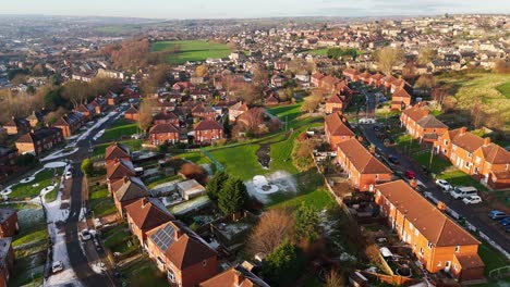
[[[58,171],[61,172],[61,169]],[[26,184],[17,184],[13,186],[12,192],[9,195],[9,198],[11,200],[23,200],[25,198],[34,198],[40,194],[40,190],[42,188],[50,186],[53,180],[58,180],[58,178],[54,177],[54,170],[45,169],[38,174],[36,174],[34,180]]]

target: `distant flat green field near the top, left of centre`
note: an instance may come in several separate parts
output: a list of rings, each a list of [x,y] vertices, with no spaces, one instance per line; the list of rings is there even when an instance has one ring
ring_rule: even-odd
[[[208,58],[224,58],[231,52],[227,45],[204,40],[154,42],[151,51],[172,51],[175,47],[179,47],[179,52],[168,55],[167,62],[169,64],[182,64],[187,61],[205,61]]]

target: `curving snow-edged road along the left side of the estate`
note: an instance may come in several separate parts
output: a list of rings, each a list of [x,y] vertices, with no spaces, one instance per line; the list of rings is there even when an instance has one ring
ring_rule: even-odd
[[[121,109],[119,112],[117,112],[116,115],[120,114],[124,110],[125,108]],[[65,246],[68,249],[71,267],[83,286],[119,286],[110,270],[104,273],[96,273],[93,270],[92,264],[95,264],[98,259],[104,258],[105,254],[101,251],[99,253],[96,251],[92,240],[84,242],[82,248],[82,242],[78,238],[78,232],[83,228],[84,225],[80,219],[82,208],[84,205],[84,200],[82,198],[83,174],[80,171],[80,167],[82,161],[90,157],[88,148],[92,138],[97,134],[98,130],[110,126],[114,118],[116,116],[111,116],[108,121],[94,128],[94,130],[92,130],[86,137],[76,142],[78,150],[75,153],[60,159],[66,159],[68,161],[72,162],[72,167],[74,170],[71,187],[70,213],[64,226]]]

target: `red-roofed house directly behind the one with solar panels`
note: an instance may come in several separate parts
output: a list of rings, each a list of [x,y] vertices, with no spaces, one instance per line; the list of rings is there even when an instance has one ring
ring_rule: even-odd
[[[125,214],[131,232],[143,247],[146,247],[148,230],[175,220],[159,199],[149,197],[125,205]]]

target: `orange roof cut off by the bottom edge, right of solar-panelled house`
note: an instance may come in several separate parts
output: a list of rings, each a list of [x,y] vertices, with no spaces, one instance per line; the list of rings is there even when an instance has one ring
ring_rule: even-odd
[[[243,262],[246,263],[246,262]],[[199,287],[217,287],[217,286],[254,286],[269,287],[267,283],[245,269],[243,264],[235,267],[230,267],[215,277],[201,283]]]

